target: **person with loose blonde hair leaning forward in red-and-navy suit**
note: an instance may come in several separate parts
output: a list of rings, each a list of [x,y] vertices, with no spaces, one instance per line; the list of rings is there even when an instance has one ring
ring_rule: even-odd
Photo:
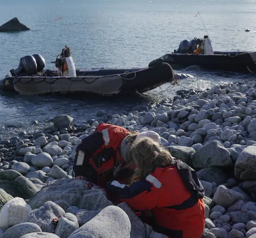
[[[137,167],[130,185],[108,182],[108,196],[126,202],[156,232],[171,238],[201,238],[204,188],[196,171],[150,138],[136,138],[128,158]]]

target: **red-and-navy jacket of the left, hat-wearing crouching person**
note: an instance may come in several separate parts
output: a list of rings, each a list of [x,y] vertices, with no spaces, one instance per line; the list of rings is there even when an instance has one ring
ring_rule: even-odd
[[[88,181],[101,186],[104,186],[104,180],[112,181],[110,177],[114,168],[123,162],[120,154],[122,140],[129,133],[120,126],[100,124],[76,148],[73,166],[75,176],[84,176]]]

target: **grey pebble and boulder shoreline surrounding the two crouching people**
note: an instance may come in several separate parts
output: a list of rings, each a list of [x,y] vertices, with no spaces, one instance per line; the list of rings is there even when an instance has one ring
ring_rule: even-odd
[[[157,132],[174,157],[197,171],[206,192],[206,238],[256,238],[255,88],[255,81],[243,81],[204,92],[180,90],[152,108],[141,105],[122,114],[99,110],[98,119],[82,124],[60,115],[42,131],[4,138],[0,208],[7,204],[9,216],[6,221],[5,206],[1,238],[166,237],[126,204],[114,206],[104,190],[72,179],[76,146],[102,122]]]

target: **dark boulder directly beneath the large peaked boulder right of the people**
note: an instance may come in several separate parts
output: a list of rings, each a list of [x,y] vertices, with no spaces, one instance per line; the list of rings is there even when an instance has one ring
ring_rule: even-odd
[[[228,180],[228,175],[221,169],[216,167],[204,168],[197,173],[199,180],[207,182],[215,182],[216,184],[223,184]]]

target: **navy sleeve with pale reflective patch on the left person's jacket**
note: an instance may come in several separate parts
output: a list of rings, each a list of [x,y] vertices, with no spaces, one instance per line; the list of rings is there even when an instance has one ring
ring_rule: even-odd
[[[84,138],[82,143],[76,147],[76,156],[73,166],[75,177],[86,177],[88,176],[88,173],[93,174],[92,170],[94,170],[94,168],[90,165],[89,159],[103,144],[104,140],[102,138],[102,133],[95,132]]]

